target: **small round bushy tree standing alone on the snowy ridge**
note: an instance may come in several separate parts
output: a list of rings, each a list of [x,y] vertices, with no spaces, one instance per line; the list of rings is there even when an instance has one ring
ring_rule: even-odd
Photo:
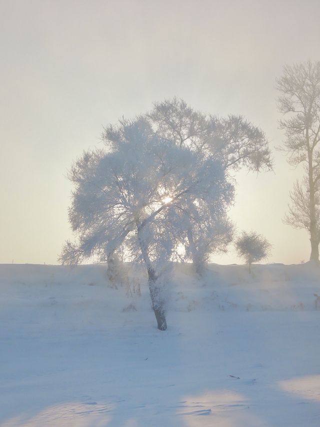
[[[261,234],[255,231],[242,231],[235,241],[237,255],[243,258],[251,273],[252,262],[259,262],[270,255],[271,245]]]

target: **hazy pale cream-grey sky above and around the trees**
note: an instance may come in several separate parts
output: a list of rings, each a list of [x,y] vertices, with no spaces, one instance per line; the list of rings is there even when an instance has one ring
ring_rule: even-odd
[[[265,131],[274,173],[237,175],[231,218],[265,235],[269,262],[308,260],[307,233],[282,223],[300,171],[274,150],[274,84],[284,64],[320,59],[319,16],[318,0],[0,0],[0,263],[56,263],[72,160],[173,96]]]

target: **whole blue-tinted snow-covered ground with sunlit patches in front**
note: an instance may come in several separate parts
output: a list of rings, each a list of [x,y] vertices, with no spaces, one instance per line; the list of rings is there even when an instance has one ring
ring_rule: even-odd
[[[315,266],[175,266],[166,331],[128,274],[0,265],[1,427],[320,425]]]

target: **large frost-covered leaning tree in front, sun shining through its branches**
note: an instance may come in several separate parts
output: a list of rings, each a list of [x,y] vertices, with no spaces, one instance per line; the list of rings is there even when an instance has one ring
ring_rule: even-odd
[[[157,327],[164,330],[163,271],[190,224],[215,225],[219,235],[233,188],[218,160],[159,137],[143,118],[107,128],[103,141],[105,149],[85,152],[69,173],[77,240],[66,242],[60,259],[78,263],[98,255],[112,264],[116,253],[142,261]]]

